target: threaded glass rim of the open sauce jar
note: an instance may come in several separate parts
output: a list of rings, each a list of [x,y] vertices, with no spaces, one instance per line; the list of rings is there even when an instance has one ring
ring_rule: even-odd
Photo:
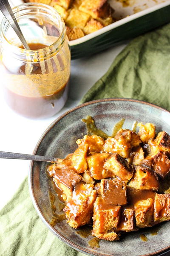
[[[51,45],[49,45],[47,47],[42,48],[45,52],[47,51],[47,53],[49,53],[49,49],[52,48],[52,47],[55,47],[55,49],[56,49],[55,54],[56,54],[56,52],[58,52],[60,50],[59,46],[62,46],[62,44],[65,41],[66,29],[65,29],[65,23],[64,23],[63,18],[61,17],[61,15],[59,15],[59,13],[57,12],[56,9],[54,9],[52,6],[48,6],[48,5],[43,4],[43,3],[23,3],[23,4],[20,4],[18,6],[15,6],[15,7],[12,8],[15,17],[16,17],[16,15],[19,12],[21,12],[24,9],[26,9],[26,7],[34,7],[34,8],[37,8],[37,9],[40,9],[40,8],[46,9],[47,11],[51,11],[51,13],[53,15],[57,15],[57,18],[59,18],[61,20],[62,29],[61,29],[60,35],[57,38],[57,40],[54,41],[53,44],[51,44]],[[16,19],[18,17],[20,17],[20,16],[17,16]],[[8,48],[10,48],[12,52],[14,51],[18,55],[27,55],[28,53],[29,53],[29,55],[34,55],[35,53],[38,53],[38,51],[39,51],[38,49],[34,49],[34,50],[22,49],[20,47],[17,47],[15,45],[11,44],[8,41],[8,39],[6,38],[5,32],[4,32],[4,29],[7,26],[10,26],[10,25],[9,25],[8,21],[6,20],[6,18],[3,17],[3,19],[2,19],[2,21],[0,23],[1,40],[5,41],[8,44]]]

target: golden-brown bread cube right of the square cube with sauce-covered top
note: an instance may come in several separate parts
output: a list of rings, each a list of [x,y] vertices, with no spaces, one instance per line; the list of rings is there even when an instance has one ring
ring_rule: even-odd
[[[150,172],[147,168],[136,166],[133,178],[128,183],[128,186],[135,189],[158,190],[159,181],[154,173]]]

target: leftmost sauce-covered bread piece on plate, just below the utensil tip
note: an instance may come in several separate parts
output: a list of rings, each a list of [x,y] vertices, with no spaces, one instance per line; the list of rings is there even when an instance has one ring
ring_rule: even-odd
[[[49,166],[48,173],[53,177],[56,186],[62,190],[63,200],[68,202],[72,196],[73,186],[82,180],[82,176],[78,175],[73,167],[62,163]]]

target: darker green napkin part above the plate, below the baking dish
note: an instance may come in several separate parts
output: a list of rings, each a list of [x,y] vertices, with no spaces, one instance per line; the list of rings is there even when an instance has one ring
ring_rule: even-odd
[[[81,103],[112,97],[141,99],[170,110],[170,24],[131,41]]]

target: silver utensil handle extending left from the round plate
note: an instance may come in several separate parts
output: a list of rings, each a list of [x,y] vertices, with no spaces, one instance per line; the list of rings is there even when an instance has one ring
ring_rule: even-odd
[[[0,151],[0,158],[9,158],[9,159],[25,159],[33,161],[42,161],[42,162],[57,162],[56,157],[44,157],[30,154],[19,154]]]

